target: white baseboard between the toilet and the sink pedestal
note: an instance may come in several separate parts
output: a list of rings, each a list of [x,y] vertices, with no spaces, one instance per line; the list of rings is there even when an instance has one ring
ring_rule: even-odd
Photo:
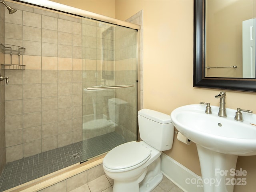
[[[200,176],[164,153],[161,154],[161,170],[164,176],[170,179],[184,192],[204,191],[200,183]]]

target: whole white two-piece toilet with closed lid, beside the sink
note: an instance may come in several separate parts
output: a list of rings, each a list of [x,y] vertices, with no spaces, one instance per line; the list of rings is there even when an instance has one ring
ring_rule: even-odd
[[[150,109],[138,112],[140,138],[112,149],[103,169],[114,179],[113,192],[150,192],[162,180],[160,154],[172,148],[174,125],[170,115]]]

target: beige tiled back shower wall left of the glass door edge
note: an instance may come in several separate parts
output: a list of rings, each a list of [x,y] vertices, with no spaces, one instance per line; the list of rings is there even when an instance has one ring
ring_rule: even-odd
[[[26,70],[5,70],[10,162],[82,140],[82,25],[81,18],[8,3],[18,11],[5,15],[5,43],[26,48]]]

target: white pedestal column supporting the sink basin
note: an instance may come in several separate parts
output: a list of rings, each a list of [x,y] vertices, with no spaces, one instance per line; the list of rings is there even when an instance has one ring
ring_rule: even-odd
[[[222,154],[196,144],[204,192],[233,192],[236,155]],[[231,170],[231,172],[230,172]]]

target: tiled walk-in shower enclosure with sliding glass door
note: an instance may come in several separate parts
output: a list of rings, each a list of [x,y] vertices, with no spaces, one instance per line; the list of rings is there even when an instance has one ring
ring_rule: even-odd
[[[1,82],[0,191],[136,140],[138,28],[56,3],[54,11],[6,3],[17,11],[0,4],[0,72],[9,77]]]

